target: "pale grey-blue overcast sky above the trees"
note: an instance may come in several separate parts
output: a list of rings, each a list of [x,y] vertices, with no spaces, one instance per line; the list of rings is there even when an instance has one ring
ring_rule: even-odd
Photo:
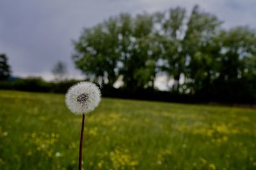
[[[217,15],[226,28],[256,27],[256,0],[22,0],[0,1],[0,53],[6,53],[15,76],[52,78],[58,61],[68,65],[70,77],[81,77],[71,60],[72,39],[119,13],[164,11],[182,6]]]

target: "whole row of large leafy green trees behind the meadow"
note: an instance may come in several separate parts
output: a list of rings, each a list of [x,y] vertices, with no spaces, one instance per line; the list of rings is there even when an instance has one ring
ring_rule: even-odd
[[[194,6],[132,17],[122,13],[84,29],[72,59],[92,81],[121,89],[154,89],[157,75],[170,92],[256,98],[256,34]],[[181,81],[182,80],[182,81]]]

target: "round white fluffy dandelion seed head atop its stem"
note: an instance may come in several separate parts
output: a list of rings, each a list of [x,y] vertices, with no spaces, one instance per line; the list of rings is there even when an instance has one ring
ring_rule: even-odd
[[[83,115],[99,105],[100,90],[94,83],[83,81],[68,89],[65,101],[71,112]]]

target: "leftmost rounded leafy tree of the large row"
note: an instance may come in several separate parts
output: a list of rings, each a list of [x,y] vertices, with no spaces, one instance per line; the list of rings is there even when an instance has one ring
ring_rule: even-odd
[[[74,41],[76,52],[72,59],[92,81],[113,86],[118,78],[118,31],[116,18],[109,18],[92,29],[84,29],[79,40]]]

